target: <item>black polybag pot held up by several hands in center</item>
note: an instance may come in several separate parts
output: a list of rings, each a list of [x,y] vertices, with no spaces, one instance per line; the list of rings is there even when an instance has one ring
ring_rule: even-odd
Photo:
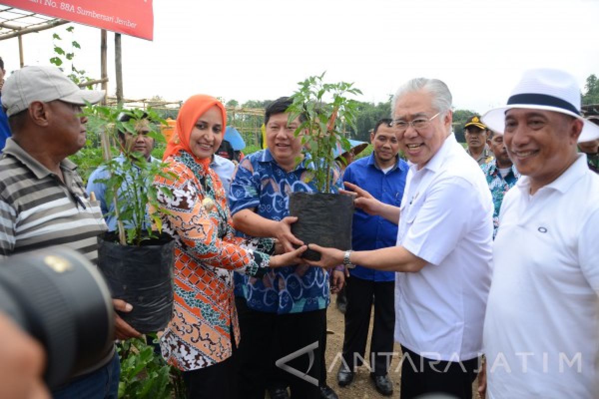
[[[305,244],[342,251],[352,249],[353,196],[348,194],[291,193],[289,214],[298,221],[291,232]],[[308,249],[304,258],[320,260],[319,252]]]

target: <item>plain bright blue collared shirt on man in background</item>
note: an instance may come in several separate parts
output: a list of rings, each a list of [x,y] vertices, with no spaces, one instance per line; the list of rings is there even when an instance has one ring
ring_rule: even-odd
[[[374,160],[374,153],[369,157],[350,163],[343,175],[343,181],[358,185],[376,199],[394,206],[401,205],[401,198],[406,187],[408,164],[398,157],[397,163],[389,172],[381,170]],[[371,249],[395,246],[397,242],[397,224],[383,217],[368,215],[361,209],[353,214],[352,249],[368,251]],[[380,272],[356,266],[350,269],[350,275],[370,281],[394,281],[395,272]]]

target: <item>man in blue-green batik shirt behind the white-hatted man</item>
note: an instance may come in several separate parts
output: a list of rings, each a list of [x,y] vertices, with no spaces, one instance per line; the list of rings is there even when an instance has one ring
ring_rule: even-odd
[[[516,166],[507,155],[506,145],[503,143],[503,133],[490,132],[489,147],[495,154],[495,159],[480,165],[480,167],[485,173],[493,197],[493,238],[495,239],[495,234],[497,234],[499,228],[499,210],[501,209],[503,197],[506,195],[507,190],[516,184],[520,178],[520,173],[518,173]]]

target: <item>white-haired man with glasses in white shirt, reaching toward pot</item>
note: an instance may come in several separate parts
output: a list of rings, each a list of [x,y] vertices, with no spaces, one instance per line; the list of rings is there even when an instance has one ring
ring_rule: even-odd
[[[321,252],[314,266],[360,264],[397,273],[395,340],[401,397],[441,392],[472,397],[491,283],[493,204],[480,167],[451,132],[452,98],[440,80],[419,78],[395,94],[392,111],[410,171],[401,207],[352,184],[356,206],[398,223],[397,246]]]

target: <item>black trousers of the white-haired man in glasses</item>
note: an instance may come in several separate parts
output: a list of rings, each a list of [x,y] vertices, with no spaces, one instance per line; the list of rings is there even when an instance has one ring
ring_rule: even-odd
[[[472,383],[479,371],[479,358],[461,362],[423,358],[401,346],[401,399],[423,394],[447,394],[459,399],[472,399]],[[409,358],[408,358],[409,357]]]

